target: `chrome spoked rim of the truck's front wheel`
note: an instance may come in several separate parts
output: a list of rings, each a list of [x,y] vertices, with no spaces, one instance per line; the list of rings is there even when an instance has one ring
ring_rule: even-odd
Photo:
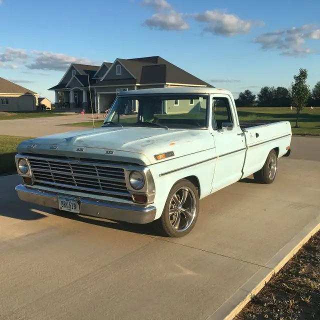
[[[177,189],[169,203],[169,220],[175,231],[183,232],[192,224],[196,215],[193,190],[184,186]]]

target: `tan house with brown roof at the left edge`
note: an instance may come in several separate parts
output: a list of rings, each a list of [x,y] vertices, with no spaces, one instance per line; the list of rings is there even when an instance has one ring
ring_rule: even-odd
[[[36,110],[39,94],[0,77],[0,111]]]

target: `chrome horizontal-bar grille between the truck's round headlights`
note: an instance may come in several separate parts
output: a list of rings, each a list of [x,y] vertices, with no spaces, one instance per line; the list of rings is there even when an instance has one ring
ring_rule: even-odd
[[[124,169],[99,163],[28,157],[36,184],[129,196]]]

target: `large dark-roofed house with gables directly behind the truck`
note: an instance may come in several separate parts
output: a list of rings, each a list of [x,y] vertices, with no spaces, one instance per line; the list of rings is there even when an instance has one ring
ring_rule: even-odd
[[[56,110],[90,109],[92,103],[93,112],[100,113],[111,106],[121,90],[166,86],[212,87],[160,56],[149,56],[117,58],[100,66],[72,63],[60,82],[49,90],[55,91]],[[63,101],[59,101],[58,92],[63,92]]]

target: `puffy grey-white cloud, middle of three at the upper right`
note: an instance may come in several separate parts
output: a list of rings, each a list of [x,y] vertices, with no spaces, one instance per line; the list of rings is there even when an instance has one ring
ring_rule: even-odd
[[[192,16],[198,22],[204,23],[203,32],[214,35],[234,36],[248,33],[252,26],[262,25],[262,21],[242,20],[235,14],[220,12],[219,10],[206,10]]]

